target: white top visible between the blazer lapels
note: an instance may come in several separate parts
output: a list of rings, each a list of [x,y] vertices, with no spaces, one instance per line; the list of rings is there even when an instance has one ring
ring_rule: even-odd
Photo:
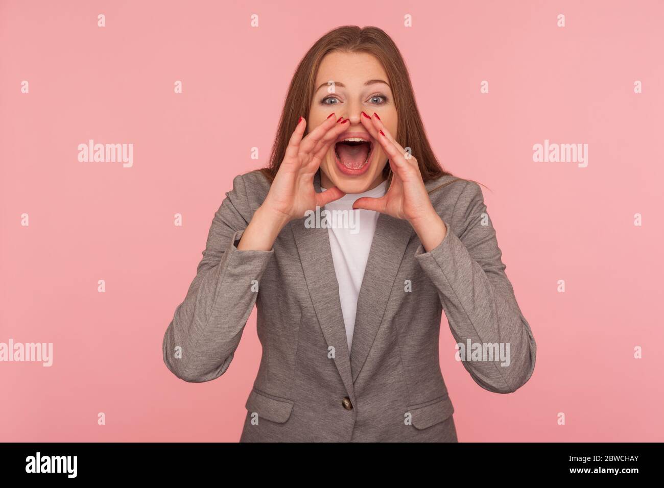
[[[325,190],[321,188],[321,190]],[[347,194],[341,199],[325,205],[325,210],[336,212],[335,225],[327,228],[332,250],[334,270],[339,283],[339,299],[343,321],[346,325],[348,350],[351,351],[357,296],[365,276],[367,258],[376,230],[376,220],[380,215],[373,210],[353,210],[353,202],[361,197],[382,197],[387,191],[387,181],[364,193]],[[345,210],[345,212],[343,212]]]

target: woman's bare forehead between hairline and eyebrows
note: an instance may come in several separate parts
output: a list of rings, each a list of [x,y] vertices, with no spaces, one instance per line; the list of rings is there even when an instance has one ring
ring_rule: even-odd
[[[315,86],[330,80],[347,87],[361,86],[367,80],[375,79],[387,80],[387,73],[373,54],[332,51],[325,54],[321,61]]]

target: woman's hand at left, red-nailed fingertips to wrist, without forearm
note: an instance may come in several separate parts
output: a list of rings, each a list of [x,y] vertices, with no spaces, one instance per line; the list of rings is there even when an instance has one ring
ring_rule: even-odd
[[[343,197],[344,193],[337,187],[316,193],[313,177],[330,146],[347,127],[346,122],[348,119],[337,122],[332,113],[304,139],[302,135],[307,122],[301,118],[295,126],[284,160],[262,204],[268,212],[274,212],[277,220],[284,225],[295,218],[302,218],[307,210],[315,210],[317,206]]]

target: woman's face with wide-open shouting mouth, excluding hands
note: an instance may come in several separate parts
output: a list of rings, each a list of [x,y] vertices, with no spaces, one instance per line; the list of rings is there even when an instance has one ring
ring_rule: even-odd
[[[321,186],[335,186],[343,193],[373,189],[383,180],[388,157],[365,129],[362,112],[369,117],[376,112],[393,135],[397,119],[387,74],[372,54],[333,51],[325,55],[316,77],[307,129],[315,129],[332,112],[336,119],[350,121],[321,162]],[[367,118],[365,121],[371,123]],[[349,138],[355,140],[341,142]]]

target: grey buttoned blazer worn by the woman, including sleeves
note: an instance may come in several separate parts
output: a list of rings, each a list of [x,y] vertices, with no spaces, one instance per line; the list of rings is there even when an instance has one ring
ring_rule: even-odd
[[[314,185],[321,191],[320,173]],[[224,374],[255,303],[263,353],[240,442],[457,442],[438,357],[442,312],[457,343],[485,353],[509,344],[509,365],[462,361],[491,392],[529,380],[536,345],[479,185],[445,176],[426,187],[448,233],[425,252],[406,220],[380,214],[349,353],[327,228],[293,220],[272,250],[238,250],[270,184],[258,171],[236,177],[166,329],[166,366],[189,382]]]

